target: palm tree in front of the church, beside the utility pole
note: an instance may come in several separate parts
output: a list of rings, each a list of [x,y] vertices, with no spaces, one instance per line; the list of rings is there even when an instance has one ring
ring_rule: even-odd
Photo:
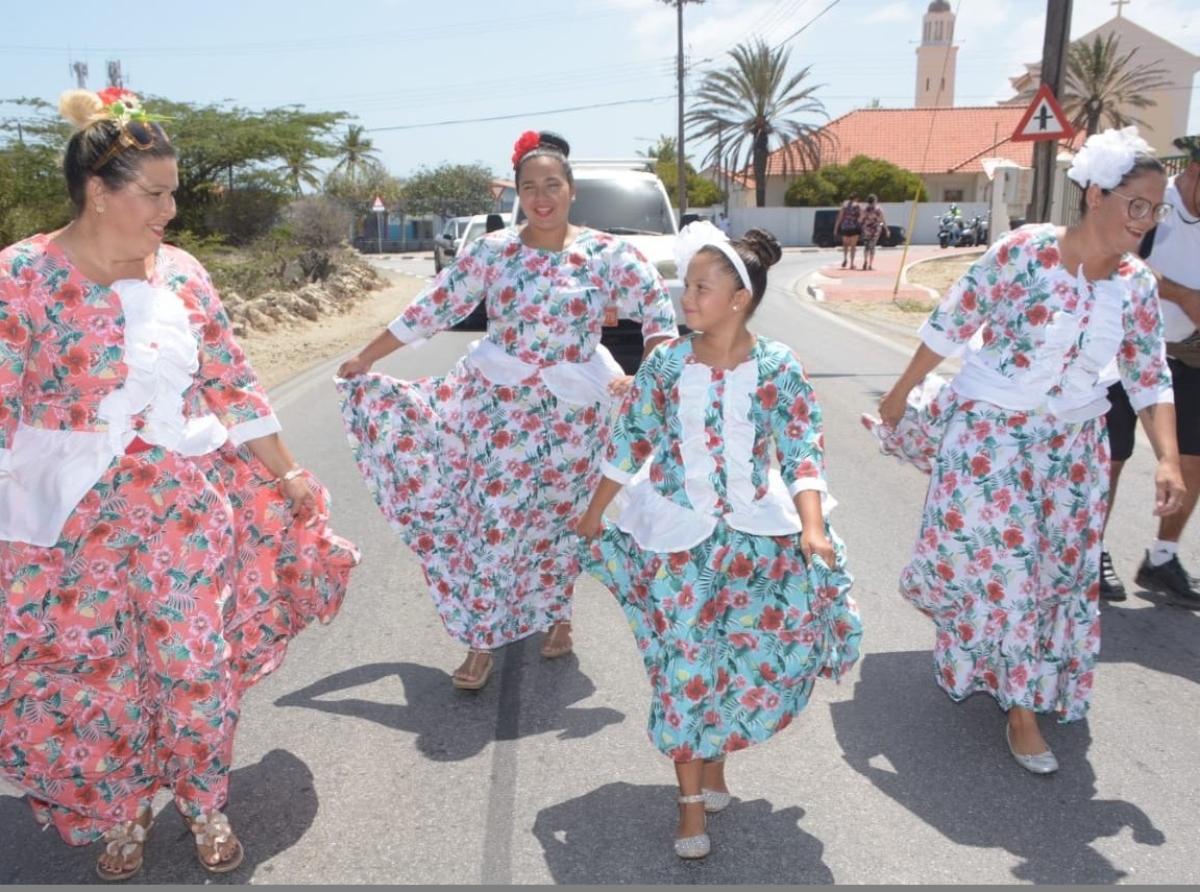
[[[1067,53],[1067,78],[1063,85],[1062,110],[1070,125],[1088,136],[1100,128],[1142,125],[1133,109],[1150,108],[1158,103],[1145,94],[1170,86],[1168,72],[1153,64],[1133,65],[1136,48],[1120,52],[1115,34],[1092,43],[1076,41]]]

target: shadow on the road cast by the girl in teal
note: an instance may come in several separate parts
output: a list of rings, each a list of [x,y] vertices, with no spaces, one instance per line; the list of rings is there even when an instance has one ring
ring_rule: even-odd
[[[822,885],[824,845],[799,824],[799,806],[734,800],[713,815],[712,854],[683,861],[672,846],[677,788],[616,783],[544,808],[533,833],[557,885]]]

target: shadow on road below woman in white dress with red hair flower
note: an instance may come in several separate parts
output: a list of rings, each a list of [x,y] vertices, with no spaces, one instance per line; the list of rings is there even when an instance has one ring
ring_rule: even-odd
[[[364,684],[397,678],[403,702],[335,696]],[[541,659],[538,648],[518,641],[496,652],[496,667],[479,692],[455,690],[449,674],[415,663],[368,663],[336,672],[284,694],[276,706],[299,706],[334,716],[374,722],[416,735],[427,759],[452,762],[479,755],[493,741],[557,732],[559,740],[588,737],[625,716],[608,707],[577,707],[595,693],[568,654]],[[487,720],[481,720],[486,717]]]

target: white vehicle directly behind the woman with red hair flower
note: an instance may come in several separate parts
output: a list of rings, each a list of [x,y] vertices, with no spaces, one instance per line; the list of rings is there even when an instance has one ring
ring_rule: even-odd
[[[674,240],[679,232],[674,210],[662,181],[644,158],[630,161],[588,161],[571,158],[575,174],[575,203],[571,222],[620,235],[641,251],[666,280],[674,303],[679,331],[683,324],[683,282],[674,261]],[[512,205],[517,226],[524,222],[520,200]],[[606,325],[600,342],[626,373],[632,375],[642,361],[642,325],[619,319]]]

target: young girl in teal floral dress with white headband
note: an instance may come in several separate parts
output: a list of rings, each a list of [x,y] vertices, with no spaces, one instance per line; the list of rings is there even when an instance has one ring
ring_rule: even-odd
[[[862,630],[824,516],[821,409],[791,351],[746,328],[779,243],[762,229],[731,243],[701,222],[677,256],[701,334],[642,364],[576,532],[637,637],[648,734],[679,783],[676,852],[698,858],[706,813],[731,800],[725,755],[785,729],[815,678],[857,660]]]

